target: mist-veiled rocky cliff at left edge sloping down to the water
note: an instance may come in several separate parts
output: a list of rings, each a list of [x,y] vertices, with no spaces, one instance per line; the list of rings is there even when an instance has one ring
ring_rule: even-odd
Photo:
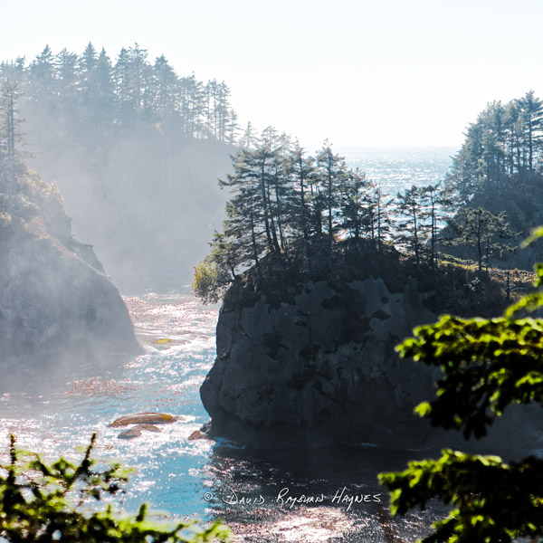
[[[0,352],[48,367],[139,351],[128,310],[92,247],[71,234],[58,191],[17,165],[0,194]]]

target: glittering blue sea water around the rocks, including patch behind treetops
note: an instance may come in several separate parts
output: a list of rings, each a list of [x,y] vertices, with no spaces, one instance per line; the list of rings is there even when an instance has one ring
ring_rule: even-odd
[[[367,164],[376,178],[373,165],[380,159],[365,152],[348,156],[349,163],[363,169]],[[399,157],[394,164],[386,158],[383,171],[395,176],[394,182],[387,178],[387,186],[434,183],[443,177],[447,157],[442,153],[440,167],[431,157],[419,157],[420,170],[416,160],[409,162],[412,176],[405,181],[398,172],[408,159]],[[0,379],[0,450],[14,433],[20,445],[46,456],[73,456],[77,445],[98,432],[98,455],[137,469],[123,507],[136,510],[147,501],[180,517],[223,518],[236,541],[413,541],[427,533],[439,510],[388,519],[386,492],[376,482],[378,472],[403,469],[406,460],[427,451],[389,451],[366,443],[262,453],[228,441],[188,440],[208,421],[199,387],[214,361],[218,308],[199,304],[175,278],[171,283],[167,294],[126,299],[145,354],[116,357],[109,370],[83,365],[61,374],[26,372],[19,386]],[[161,425],[161,433],[144,432],[133,440],[119,439],[120,430],[108,426],[120,415],[143,411],[182,418]],[[349,505],[349,496],[358,502]]]

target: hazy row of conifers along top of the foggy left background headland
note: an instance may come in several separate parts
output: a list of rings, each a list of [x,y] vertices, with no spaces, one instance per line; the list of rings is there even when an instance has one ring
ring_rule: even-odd
[[[54,115],[70,129],[161,123],[186,138],[229,144],[237,138],[237,115],[224,81],[205,83],[194,73],[180,77],[164,55],[149,62],[138,43],[122,48],[115,62],[92,43],[81,55],[66,49],[54,54],[46,46],[32,62],[20,57],[0,63],[0,81],[6,80],[17,84],[25,111]]]

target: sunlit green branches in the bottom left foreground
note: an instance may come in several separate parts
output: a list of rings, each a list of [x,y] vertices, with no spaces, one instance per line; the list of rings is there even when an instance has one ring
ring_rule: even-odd
[[[226,540],[229,530],[219,523],[208,528],[193,521],[149,519],[143,504],[136,517],[91,510],[122,491],[130,471],[119,462],[92,458],[96,434],[79,463],[64,458],[48,463],[15,446],[10,436],[9,462],[0,464],[0,538],[14,543],[53,541],[86,543],[196,543]]]

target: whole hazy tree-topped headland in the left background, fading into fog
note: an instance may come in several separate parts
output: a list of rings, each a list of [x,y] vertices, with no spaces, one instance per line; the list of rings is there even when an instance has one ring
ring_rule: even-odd
[[[24,119],[28,164],[59,187],[114,280],[171,268],[189,277],[222,220],[216,178],[243,138],[224,81],[181,76],[137,43],[116,58],[92,43],[46,46],[2,62],[0,80]]]

